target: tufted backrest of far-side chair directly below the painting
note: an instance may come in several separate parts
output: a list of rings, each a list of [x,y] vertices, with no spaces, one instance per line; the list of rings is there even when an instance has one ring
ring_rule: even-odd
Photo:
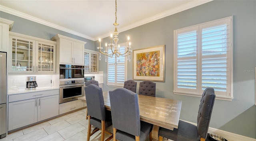
[[[139,94],[145,96],[156,96],[156,83],[146,80],[140,82]]]

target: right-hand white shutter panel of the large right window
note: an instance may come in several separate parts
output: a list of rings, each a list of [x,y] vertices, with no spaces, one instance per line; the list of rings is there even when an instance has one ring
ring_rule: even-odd
[[[202,82],[201,92],[212,87],[220,96],[230,93],[230,22],[202,25]]]

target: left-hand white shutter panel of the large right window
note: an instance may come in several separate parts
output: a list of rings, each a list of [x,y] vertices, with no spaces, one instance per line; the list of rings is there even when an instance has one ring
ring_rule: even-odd
[[[198,27],[176,32],[176,90],[196,92],[198,86]]]

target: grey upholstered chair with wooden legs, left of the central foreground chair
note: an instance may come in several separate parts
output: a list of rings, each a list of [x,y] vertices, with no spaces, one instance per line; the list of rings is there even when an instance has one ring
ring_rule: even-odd
[[[90,84],[84,88],[86,92],[86,103],[88,110],[88,133],[87,141],[90,141],[90,136],[101,130],[101,141],[104,141],[105,132],[111,136],[107,139],[113,138],[112,133],[105,130],[106,127],[112,125],[111,112],[107,111],[104,106],[104,98],[102,88]],[[91,133],[92,125],[97,129],[94,129]]]

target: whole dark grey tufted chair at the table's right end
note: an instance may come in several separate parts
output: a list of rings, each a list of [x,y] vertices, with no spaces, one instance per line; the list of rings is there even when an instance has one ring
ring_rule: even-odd
[[[207,136],[214,101],[214,89],[206,88],[199,105],[197,126],[180,120],[178,129],[173,131],[160,127],[159,141],[163,141],[163,137],[174,141],[211,141]]]

